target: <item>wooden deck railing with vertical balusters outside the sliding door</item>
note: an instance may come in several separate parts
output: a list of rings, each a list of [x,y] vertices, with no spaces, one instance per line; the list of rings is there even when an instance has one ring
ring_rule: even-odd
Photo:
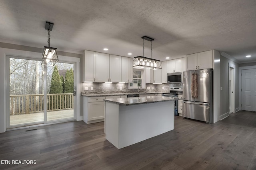
[[[72,93],[47,94],[47,111],[73,109]],[[44,94],[10,95],[10,115],[44,111]]]

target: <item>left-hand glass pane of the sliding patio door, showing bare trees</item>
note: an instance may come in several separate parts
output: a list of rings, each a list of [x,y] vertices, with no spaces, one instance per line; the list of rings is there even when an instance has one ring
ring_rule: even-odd
[[[44,68],[40,61],[9,58],[10,126],[44,123]]]

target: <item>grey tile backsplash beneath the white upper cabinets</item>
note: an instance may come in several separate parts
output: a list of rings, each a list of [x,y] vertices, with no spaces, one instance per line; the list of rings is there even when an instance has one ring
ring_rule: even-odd
[[[122,90],[121,90],[121,87],[122,87]],[[140,92],[169,92],[170,87],[182,87],[182,83],[168,83],[168,84],[148,83],[146,84],[146,89],[140,89]],[[88,90],[85,90],[87,88]],[[93,90],[91,90],[92,88]],[[82,83],[82,94],[126,93],[126,92],[138,92],[138,89],[129,89],[128,83],[84,83],[84,82]]]

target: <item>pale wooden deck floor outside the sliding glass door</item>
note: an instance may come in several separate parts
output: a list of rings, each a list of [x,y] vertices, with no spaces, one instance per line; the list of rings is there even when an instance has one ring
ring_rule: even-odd
[[[48,111],[47,121],[68,119],[74,117],[74,109]],[[21,114],[21,115],[10,115],[10,125],[19,125],[26,123],[35,123],[44,121],[44,112]]]

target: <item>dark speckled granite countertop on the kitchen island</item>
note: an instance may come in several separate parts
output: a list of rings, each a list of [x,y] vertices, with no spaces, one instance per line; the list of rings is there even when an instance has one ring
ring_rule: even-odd
[[[134,97],[134,98],[110,98],[103,99],[106,102],[112,102],[121,105],[136,105],[136,104],[148,104],[148,103],[156,103],[156,102],[166,102],[166,101],[174,101],[174,100],[182,100],[182,98],[173,98],[173,97],[165,97],[165,96],[146,96],[146,97]]]

